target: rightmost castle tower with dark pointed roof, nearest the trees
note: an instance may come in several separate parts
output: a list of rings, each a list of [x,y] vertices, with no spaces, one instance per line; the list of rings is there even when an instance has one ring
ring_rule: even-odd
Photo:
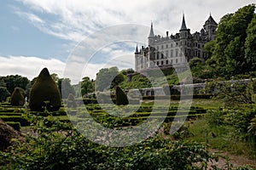
[[[208,20],[205,22],[204,25],[208,41],[214,40],[217,26],[218,24],[215,22],[215,20],[213,20],[212,15],[210,14]]]

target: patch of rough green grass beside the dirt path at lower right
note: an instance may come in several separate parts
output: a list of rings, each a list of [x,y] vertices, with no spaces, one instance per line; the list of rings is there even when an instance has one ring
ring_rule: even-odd
[[[256,146],[250,141],[236,138],[234,127],[209,127],[205,118],[200,118],[190,125],[189,130],[192,133],[189,139],[208,144],[212,149],[256,159]]]

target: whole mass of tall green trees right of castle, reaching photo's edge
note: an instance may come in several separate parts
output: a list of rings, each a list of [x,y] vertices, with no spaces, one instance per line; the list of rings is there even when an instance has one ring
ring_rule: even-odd
[[[220,20],[216,40],[208,42],[205,49],[212,54],[204,70],[208,76],[226,77],[254,71],[255,6],[239,8],[235,14],[226,14]]]

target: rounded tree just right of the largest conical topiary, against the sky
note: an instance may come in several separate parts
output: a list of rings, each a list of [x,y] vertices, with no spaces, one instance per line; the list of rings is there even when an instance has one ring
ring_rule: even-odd
[[[58,79],[58,88],[61,92],[62,99],[67,99],[69,94],[75,94],[74,88],[71,85],[71,80],[69,78]]]

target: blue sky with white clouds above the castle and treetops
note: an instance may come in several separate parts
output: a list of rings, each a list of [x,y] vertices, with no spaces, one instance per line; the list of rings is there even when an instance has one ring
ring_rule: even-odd
[[[134,68],[136,46],[154,31],[179,31],[182,16],[191,33],[212,14],[218,22],[252,0],[3,0],[0,5],[0,76],[32,80],[50,73],[82,77],[116,65]]]

